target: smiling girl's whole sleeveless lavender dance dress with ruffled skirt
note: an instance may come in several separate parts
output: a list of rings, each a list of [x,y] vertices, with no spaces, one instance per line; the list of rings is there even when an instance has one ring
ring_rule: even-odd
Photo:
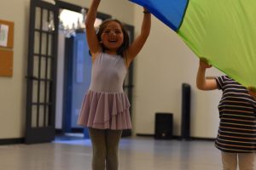
[[[105,53],[96,56],[79,125],[113,130],[131,128],[131,105],[123,90],[126,72],[125,60],[121,56]]]

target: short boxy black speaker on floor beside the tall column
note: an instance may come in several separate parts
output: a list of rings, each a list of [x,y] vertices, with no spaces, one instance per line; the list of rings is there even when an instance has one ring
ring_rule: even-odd
[[[172,113],[156,113],[154,139],[172,139]]]

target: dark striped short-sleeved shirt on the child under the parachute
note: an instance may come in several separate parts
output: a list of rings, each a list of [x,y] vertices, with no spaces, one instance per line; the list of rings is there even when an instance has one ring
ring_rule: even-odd
[[[225,152],[256,151],[256,101],[228,76],[216,78],[223,91],[218,104],[220,123],[215,146]]]

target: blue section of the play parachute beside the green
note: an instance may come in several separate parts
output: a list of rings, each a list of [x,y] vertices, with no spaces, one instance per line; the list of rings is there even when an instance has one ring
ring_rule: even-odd
[[[183,16],[189,0],[130,0],[145,8],[167,26],[177,31],[183,22]],[[172,7],[172,8],[170,8]]]

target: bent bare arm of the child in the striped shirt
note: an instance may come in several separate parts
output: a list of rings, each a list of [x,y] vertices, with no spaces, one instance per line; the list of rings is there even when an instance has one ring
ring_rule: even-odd
[[[218,88],[215,78],[206,78],[206,70],[211,65],[207,64],[207,61],[200,59],[199,67],[196,76],[196,87],[201,90],[214,90]]]

